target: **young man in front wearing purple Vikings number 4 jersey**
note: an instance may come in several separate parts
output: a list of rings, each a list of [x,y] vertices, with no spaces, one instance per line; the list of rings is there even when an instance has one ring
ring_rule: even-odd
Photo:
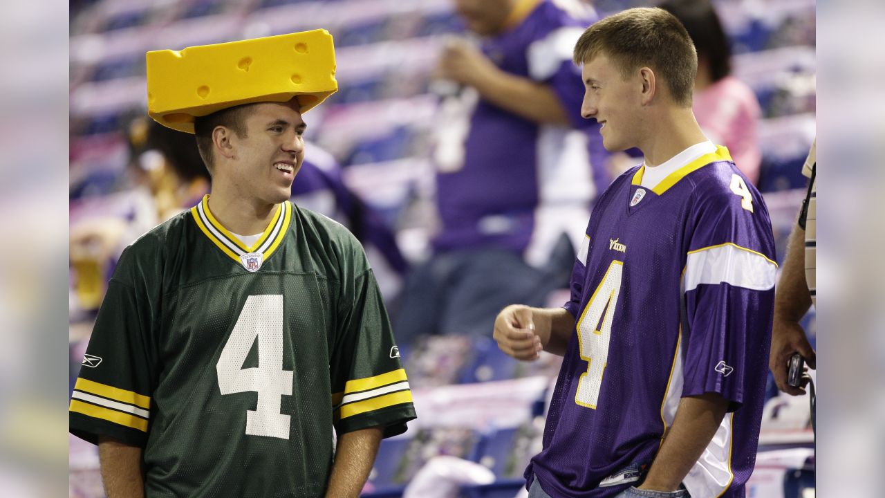
[[[697,125],[696,52],[673,15],[603,19],[574,60],[605,148],[645,160],[596,201],[571,300],[497,316],[505,353],[564,355],[529,496],[743,496],[774,307],[765,202]]]

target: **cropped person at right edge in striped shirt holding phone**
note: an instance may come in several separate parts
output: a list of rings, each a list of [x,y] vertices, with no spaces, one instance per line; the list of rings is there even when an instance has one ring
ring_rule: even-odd
[[[796,396],[804,394],[804,386],[808,377],[804,377],[802,385],[794,387],[787,384],[787,365],[789,357],[794,353],[802,354],[805,362],[815,368],[816,354],[802,329],[799,321],[809,308],[815,304],[815,273],[817,253],[817,185],[814,183],[817,159],[812,151],[802,167],[802,174],[808,176],[808,194],[799,211],[799,219],[789,236],[787,257],[783,261],[781,279],[777,284],[777,295],[774,300],[774,324],[772,329],[772,347],[768,367],[772,370],[774,382],[784,393]]]

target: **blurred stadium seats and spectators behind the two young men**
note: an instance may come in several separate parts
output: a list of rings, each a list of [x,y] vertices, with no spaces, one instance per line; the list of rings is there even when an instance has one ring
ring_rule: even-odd
[[[366,246],[419,413],[382,442],[366,496],[515,496],[559,358],[512,360],[492,322],[506,304],[567,300],[593,200],[642,161],[604,152],[581,120],[571,48],[594,19],[650,4],[72,0],[72,382],[119,253],[211,182],[193,137],[147,118],[144,52],[326,28],[340,89],[305,116],[293,201]],[[661,6],[696,43],[698,122],[763,192],[780,260],[815,136],[814,0]],[[748,494],[813,496],[808,400],[773,382],[767,397]],[[102,496],[95,447],[70,443],[70,495]]]

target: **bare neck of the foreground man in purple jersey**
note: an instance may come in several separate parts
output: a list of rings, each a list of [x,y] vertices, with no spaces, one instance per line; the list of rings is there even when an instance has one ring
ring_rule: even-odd
[[[645,154],[645,165],[656,167],[694,144],[707,140],[695,120],[691,107],[674,108],[662,113],[652,125],[651,133],[640,150]]]

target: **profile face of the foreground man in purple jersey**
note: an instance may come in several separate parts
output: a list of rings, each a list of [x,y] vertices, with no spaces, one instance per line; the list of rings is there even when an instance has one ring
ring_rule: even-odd
[[[639,145],[643,132],[643,80],[638,72],[624,78],[604,53],[584,63],[581,116],[596,118],[606,151]]]

